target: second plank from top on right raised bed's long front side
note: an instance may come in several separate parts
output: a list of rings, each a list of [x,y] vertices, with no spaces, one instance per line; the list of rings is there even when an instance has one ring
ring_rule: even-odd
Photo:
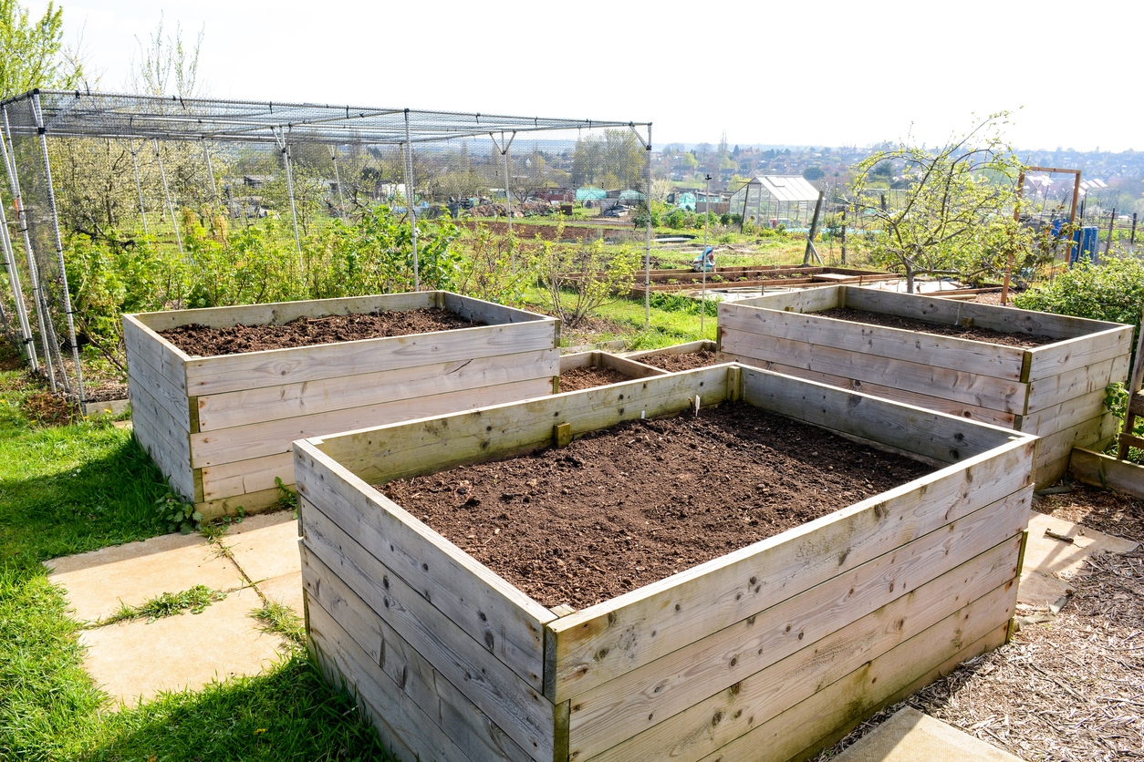
[[[1025,409],[1027,384],[961,372],[944,366],[877,358],[742,331],[725,332],[722,350],[730,355],[749,358],[745,360],[748,364],[752,360],[770,360],[919,394],[940,393],[959,402],[1004,412],[1022,412]]]

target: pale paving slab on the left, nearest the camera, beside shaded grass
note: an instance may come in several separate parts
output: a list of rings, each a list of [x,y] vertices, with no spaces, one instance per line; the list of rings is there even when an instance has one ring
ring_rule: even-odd
[[[283,637],[262,632],[261,623],[249,616],[260,608],[262,599],[246,587],[202,613],[85,629],[80,633],[80,643],[87,648],[84,665],[116,707],[162,691],[197,690],[214,680],[254,675],[288,651]]]

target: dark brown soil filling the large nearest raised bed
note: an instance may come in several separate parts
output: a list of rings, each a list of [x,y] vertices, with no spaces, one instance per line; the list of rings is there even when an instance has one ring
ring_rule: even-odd
[[[379,489],[543,605],[580,609],[930,471],[729,403]]]

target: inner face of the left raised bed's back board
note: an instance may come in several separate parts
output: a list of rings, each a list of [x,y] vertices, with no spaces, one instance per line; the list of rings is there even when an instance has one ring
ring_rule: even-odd
[[[144,312],[134,316],[142,324],[157,332],[191,323],[207,328],[229,328],[239,323],[244,326],[281,326],[299,318],[350,315],[384,310],[422,310],[436,306],[434,295],[435,291],[380,294],[334,299],[244,304],[233,307]]]

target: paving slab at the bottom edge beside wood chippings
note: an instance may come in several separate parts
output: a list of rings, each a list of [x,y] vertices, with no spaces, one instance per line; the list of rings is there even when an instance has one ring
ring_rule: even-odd
[[[913,707],[906,707],[860,738],[835,762],[1020,762]]]

